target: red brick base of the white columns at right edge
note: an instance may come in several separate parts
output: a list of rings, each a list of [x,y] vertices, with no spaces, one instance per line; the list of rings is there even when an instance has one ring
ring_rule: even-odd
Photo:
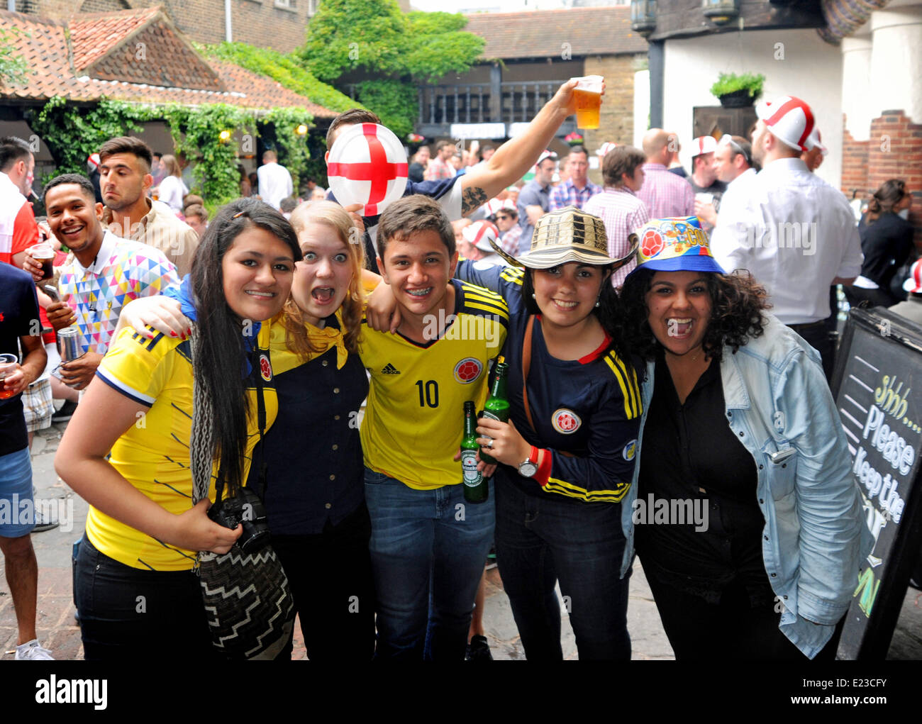
[[[903,179],[912,192],[909,220],[916,227],[916,250],[922,255],[922,125],[902,110],[884,111],[870,123],[870,138],[856,141],[845,130],[842,190],[852,197],[861,189],[867,199],[888,179]]]

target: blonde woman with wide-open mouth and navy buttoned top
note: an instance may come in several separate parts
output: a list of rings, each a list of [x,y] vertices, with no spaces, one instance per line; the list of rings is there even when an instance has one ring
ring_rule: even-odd
[[[358,415],[368,376],[358,355],[363,314],[361,232],[338,204],[313,201],[291,214],[303,260],[270,339],[278,417],[256,459],[272,545],[288,576],[308,658],[369,660],[374,588]],[[373,282],[372,282],[373,279]],[[128,326],[169,334],[173,300],[129,306]],[[261,447],[260,447],[261,445]],[[254,469],[254,476],[257,474]],[[290,659],[291,641],[277,659]]]

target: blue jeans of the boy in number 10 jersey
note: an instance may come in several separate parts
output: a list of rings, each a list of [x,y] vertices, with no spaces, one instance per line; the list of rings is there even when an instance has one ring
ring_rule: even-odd
[[[486,503],[467,503],[460,484],[420,491],[366,468],[365,500],[372,516],[375,658],[463,661],[493,540],[492,493]]]

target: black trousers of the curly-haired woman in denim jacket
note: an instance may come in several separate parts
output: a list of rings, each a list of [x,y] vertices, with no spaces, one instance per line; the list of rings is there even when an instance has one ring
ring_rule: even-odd
[[[774,602],[751,607],[746,589],[731,584],[712,604],[647,576],[656,609],[676,659],[684,661],[804,661],[807,657],[778,628]],[[842,622],[814,657],[835,659]]]

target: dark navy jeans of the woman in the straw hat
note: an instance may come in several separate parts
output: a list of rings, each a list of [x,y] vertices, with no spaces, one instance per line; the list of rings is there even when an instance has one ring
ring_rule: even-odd
[[[496,562],[526,658],[563,658],[560,579],[579,658],[631,659],[621,504],[526,495],[503,475],[497,471]]]

